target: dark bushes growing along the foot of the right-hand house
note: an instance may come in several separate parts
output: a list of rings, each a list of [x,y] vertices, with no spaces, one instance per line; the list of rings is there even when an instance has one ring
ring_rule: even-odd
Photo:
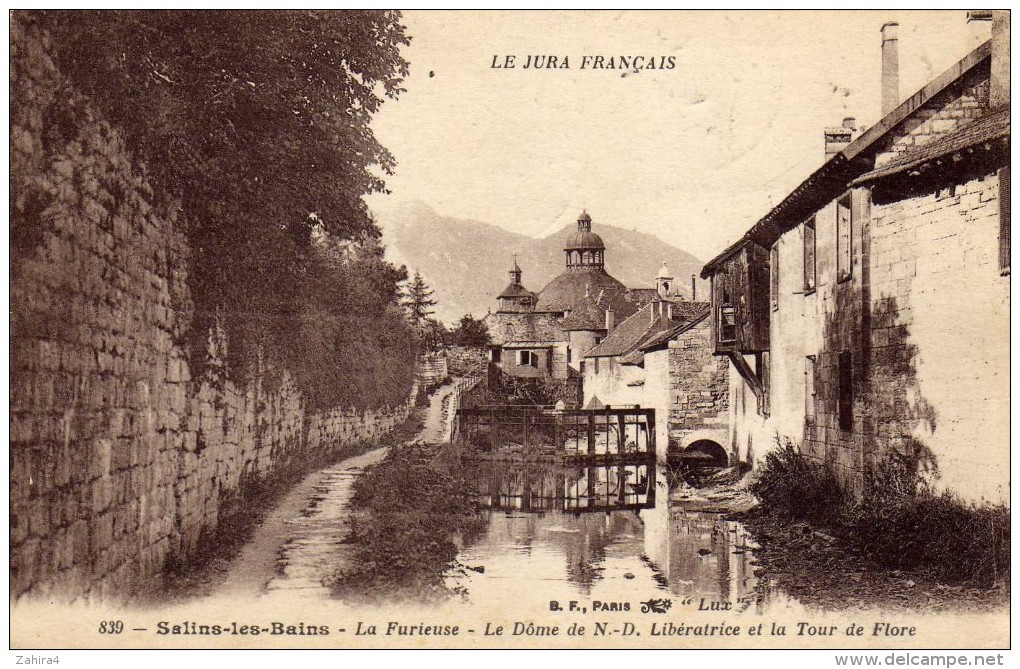
[[[983,587],[1009,579],[1007,507],[905,484],[903,468],[887,464],[891,474],[872,476],[857,500],[829,468],[786,443],[766,457],[751,491],[765,513],[823,525],[880,565]]]

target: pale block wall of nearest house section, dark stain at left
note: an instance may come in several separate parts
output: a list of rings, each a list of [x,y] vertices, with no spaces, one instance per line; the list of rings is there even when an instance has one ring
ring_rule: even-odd
[[[917,459],[936,487],[1009,499],[1010,284],[999,179],[875,205],[869,418],[879,455]]]

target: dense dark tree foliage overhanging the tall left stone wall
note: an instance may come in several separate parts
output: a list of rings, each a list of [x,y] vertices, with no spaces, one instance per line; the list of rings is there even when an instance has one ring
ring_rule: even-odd
[[[180,202],[195,362],[221,323],[235,374],[264,352],[316,405],[406,396],[418,345],[398,308],[405,274],[363,201],[395,165],[369,122],[407,73],[399,12],[18,17],[48,30],[60,69]]]

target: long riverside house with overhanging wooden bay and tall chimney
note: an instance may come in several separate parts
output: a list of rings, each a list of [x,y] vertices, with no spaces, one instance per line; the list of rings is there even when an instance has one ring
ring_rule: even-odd
[[[883,27],[883,117],[827,137],[824,164],[706,265],[742,459],[789,440],[857,494],[905,467],[1008,499],[1009,17],[994,14],[990,41],[902,102]]]

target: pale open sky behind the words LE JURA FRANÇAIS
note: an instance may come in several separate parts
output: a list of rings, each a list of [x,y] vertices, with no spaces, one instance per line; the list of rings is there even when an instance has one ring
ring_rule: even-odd
[[[825,126],[878,120],[888,20],[901,99],[990,34],[959,10],[405,12],[407,91],[372,124],[397,173],[369,207],[385,221],[417,200],[531,236],[584,208],[596,230],[709,260],[821,164]],[[492,66],[507,55],[516,67]],[[582,69],[585,55],[675,67]]]

